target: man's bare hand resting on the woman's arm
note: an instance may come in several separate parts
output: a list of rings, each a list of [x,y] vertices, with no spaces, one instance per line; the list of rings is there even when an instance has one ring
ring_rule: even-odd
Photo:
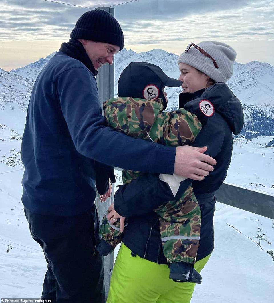
[[[213,171],[216,161],[203,153],[207,147],[192,147],[188,145],[176,147],[174,174],[201,181]],[[207,163],[211,164],[207,164]]]

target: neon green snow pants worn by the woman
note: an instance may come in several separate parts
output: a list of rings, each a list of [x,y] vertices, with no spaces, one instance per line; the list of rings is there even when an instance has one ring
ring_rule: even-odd
[[[195,263],[200,273],[210,255]],[[177,283],[169,279],[167,265],[132,257],[123,243],[112,272],[107,303],[189,303],[194,283]]]

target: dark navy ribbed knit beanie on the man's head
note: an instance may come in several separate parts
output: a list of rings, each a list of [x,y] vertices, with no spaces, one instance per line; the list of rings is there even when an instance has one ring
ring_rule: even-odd
[[[124,34],[118,21],[102,9],[85,12],[76,22],[70,38],[105,42],[124,48]]]

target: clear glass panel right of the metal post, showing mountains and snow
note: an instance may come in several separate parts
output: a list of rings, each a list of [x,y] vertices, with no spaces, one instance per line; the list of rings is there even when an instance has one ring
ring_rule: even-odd
[[[140,0],[115,6],[125,35],[125,49],[115,55],[115,96],[119,76],[132,61],[159,65],[168,76],[178,78],[177,59],[189,42],[231,45],[237,57],[227,84],[242,102],[245,122],[241,133],[233,135],[226,182],[273,195],[274,60],[267,50],[274,48],[274,33],[267,25],[272,15],[259,2],[253,7],[237,2],[233,9],[223,2],[206,3],[199,7],[198,2]],[[182,89],[165,91],[167,110],[178,108]],[[214,224],[215,250],[192,301],[271,301],[274,221],[217,203]]]

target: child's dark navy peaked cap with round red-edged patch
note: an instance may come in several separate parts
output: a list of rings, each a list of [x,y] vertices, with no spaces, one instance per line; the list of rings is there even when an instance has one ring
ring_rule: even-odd
[[[162,69],[147,62],[131,62],[122,72],[118,81],[119,97],[132,97],[165,101],[162,87],[179,87],[182,81],[170,78]],[[153,94],[153,95],[152,95]],[[149,97],[148,97],[149,96]]]

